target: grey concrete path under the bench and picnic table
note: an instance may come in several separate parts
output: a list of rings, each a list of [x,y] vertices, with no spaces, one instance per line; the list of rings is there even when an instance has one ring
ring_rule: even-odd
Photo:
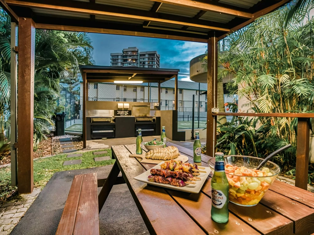
[[[74,175],[97,172],[98,177],[107,177],[111,167],[56,172],[11,235],[54,235]],[[99,224],[101,235],[149,234],[126,184],[113,186],[99,214]]]

